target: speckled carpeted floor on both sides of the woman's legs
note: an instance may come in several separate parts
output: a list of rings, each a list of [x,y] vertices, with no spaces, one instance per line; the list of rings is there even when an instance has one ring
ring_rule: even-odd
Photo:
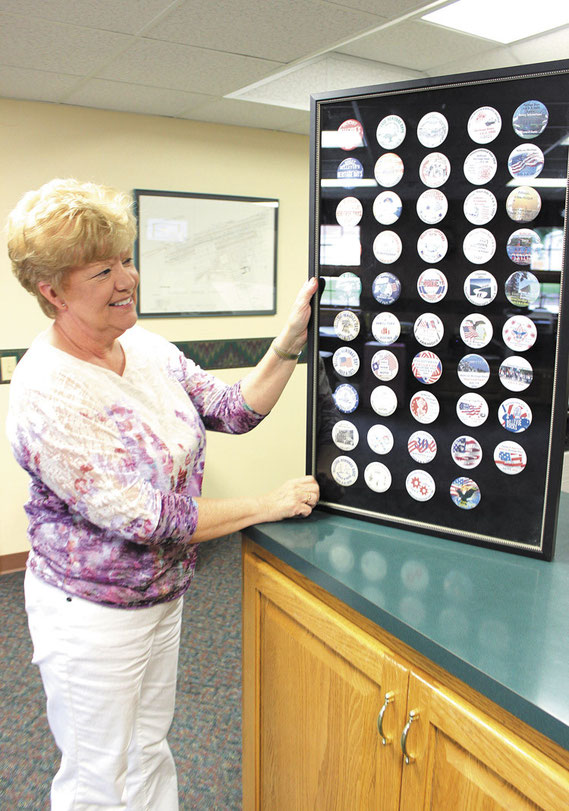
[[[239,541],[235,534],[203,545],[185,598],[169,736],[181,811],[241,808]],[[30,664],[23,577],[23,572],[0,577],[0,809],[48,811],[59,756],[39,672]]]

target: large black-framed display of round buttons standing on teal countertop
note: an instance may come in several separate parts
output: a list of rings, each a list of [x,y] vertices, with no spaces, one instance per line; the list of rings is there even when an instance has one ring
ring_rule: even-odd
[[[569,62],[319,94],[311,115],[321,506],[550,559]]]

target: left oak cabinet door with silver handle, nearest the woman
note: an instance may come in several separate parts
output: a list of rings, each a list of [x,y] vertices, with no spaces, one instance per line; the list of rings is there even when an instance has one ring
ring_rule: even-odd
[[[244,809],[398,808],[407,669],[249,555],[243,608]]]

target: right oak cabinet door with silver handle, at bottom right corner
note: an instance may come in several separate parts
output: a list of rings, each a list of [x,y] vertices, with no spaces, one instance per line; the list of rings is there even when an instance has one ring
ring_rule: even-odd
[[[569,808],[569,775],[455,694],[411,673],[401,808],[525,811]]]

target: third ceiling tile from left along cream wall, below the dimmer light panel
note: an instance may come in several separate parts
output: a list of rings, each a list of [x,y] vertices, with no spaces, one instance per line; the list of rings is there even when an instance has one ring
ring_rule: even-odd
[[[237,99],[215,99],[186,110],[181,118],[194,121],[211,121],[217,124],[232,124],[237,127],[257,127],[283,130],[299,120],[298,110],[274,107],[269,104]],[[307,116],[309,118],[309,116]]]

